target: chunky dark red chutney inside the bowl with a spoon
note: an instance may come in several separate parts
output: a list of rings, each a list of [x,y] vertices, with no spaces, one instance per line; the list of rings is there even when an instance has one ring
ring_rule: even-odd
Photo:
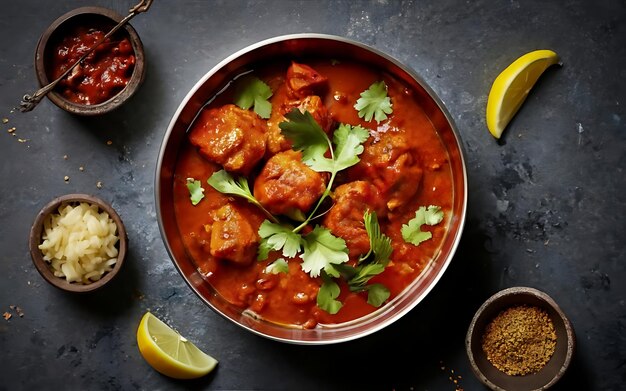
[[[52,52],[49,76],[60,77],[108,29],[76,27],[61,39]],[[84,105],[105,102],[126,87],[135,68],[135,52],[127,37],[107,38],[67,75],[56,90],[67,100]]]

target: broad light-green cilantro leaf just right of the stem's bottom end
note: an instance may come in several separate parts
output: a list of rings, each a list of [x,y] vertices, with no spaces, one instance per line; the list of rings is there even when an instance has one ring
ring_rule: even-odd
[[[311,277],[318,277],[327,266],[348,261],[346,241],[319,225],[304,237],[303,247],[301,267]]]

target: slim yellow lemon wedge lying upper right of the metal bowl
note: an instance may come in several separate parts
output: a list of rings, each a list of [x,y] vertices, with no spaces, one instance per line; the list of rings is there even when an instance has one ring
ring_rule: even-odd
[[[487,128],[493,137],[502,136],[539,76],[558,62],[559,56],[552,50],[535,50],[515,60],[498,75],[487,98]]]

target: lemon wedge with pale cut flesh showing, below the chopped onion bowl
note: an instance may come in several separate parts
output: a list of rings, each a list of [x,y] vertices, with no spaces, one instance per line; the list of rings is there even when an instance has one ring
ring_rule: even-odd
[[[217,365],[216,359],[149,311],[139,323],[137,345],[152,368],[175,379],[195,379],[210,373]]]

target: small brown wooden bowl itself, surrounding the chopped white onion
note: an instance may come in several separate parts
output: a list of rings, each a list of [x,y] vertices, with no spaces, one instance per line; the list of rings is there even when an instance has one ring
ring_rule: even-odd
[[[78,204],[80,202],[87,202],[92,205],[98,205],[100,211],[106,212],[117,225],[117,235],[119,237],[119,241],[117,243],[117,262],[113,266],[113,270],[105,273],[98,281],[94,281],[90,284],[79,284],[73,282],[70,283],[67,282],[67,280],[63,277],[55,276],[52,272],[50,264],[43,259],[43,253],[38,247],[42,243],[42,235],[44,229],[43,225],[48,215],[50,215],[51,213],[57,213],[59,207],[61,206],[67,204]],[[30,230],[29,246],[30,256],[33,259],[33,263],[35,264],[37,271],[46,281],[64,291],[86,293],[102,288],[119,273],[120,269],[122,268],[122,264],[124,263],[124,258],[126,256],[128,237],[126,235],[126,229],[124,227],[122,219],[117,214],[117,212],[115,212],[115,209],[111,207],[111,205],[91,195],[67,194],[50,201],[46,206],[41,209],[39,214],[37,214],[35,222],[33,223],[33,226]]]

